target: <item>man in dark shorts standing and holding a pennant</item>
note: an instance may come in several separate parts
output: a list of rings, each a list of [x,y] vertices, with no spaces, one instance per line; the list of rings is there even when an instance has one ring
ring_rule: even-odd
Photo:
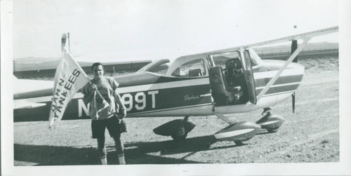
[[[126,161],[124,161],[124,144],[121,140],[119,119],[115,115],[119,107],[121,107],[122,116],[126,116],[126,107],[124,107],[121,97],[117,93],[118,83],[112,77],[103,76],[104,68],[100,62],[94,63],[91,69],[93,70],[94,78],[91,80],[91,83],[87,83],[82,88],[81,92],[84,94],[84,103],[90,103],[91,131],[93,139],[98,140],[98,152],[101,163],[102,165],[107,165],[105,147],[105,128],[107,128],[116,144],[119,164],[126,164]]]

